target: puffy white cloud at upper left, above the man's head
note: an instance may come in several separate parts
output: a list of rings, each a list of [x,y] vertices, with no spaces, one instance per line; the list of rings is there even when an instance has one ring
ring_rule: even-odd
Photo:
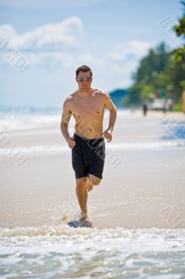
[[[0,26],[0,33],[18,50],[63,50],[80,44],[83,23],[79,17],[74,16],[56,24],[45,24],[23,34],[17,34],[11,25],[6,24]]]

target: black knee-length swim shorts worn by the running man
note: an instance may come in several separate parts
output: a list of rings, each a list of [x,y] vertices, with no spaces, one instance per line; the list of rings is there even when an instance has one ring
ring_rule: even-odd
[[[87,139],[74,133],[75,146],[72,148],[72,167],[76,179],[93,174],[102,179],[105,160],[104,137]]]

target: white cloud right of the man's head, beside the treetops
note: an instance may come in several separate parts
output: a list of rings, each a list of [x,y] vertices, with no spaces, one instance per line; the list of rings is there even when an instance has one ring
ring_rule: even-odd
[[[110,45],[108,47],[110,48]],[[130,40],[112,45],[111,50],[104,52],[104,56],[95,59],[95,68],[104,73],[109,88],[113,84],[114,88],[127,88],[131,84],[131,74],[136,71],[139,60],[147,54],[151,47],[154,45],[140,40]]]

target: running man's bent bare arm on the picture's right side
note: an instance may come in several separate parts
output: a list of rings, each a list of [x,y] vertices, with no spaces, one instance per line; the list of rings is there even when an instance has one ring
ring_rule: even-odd
[[[106,93],[106,101],[104,107],[106,107],[110,112],[108,128],[104,130],[104,137],[107,139],[107,142],[111,142],[113,127],[117,116],[117,109],[108,93]]]

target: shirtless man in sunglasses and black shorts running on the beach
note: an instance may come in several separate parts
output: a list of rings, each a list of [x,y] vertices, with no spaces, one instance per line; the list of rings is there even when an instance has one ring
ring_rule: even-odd
[[[76,193],[81,208],[81,220],[88,218],[88,192],[102,179],[105,158],[104,137],[112,140],[117,110],[110,96],[102,89],[91,87],[92,70],[81,66],[76,71],[79,89],[68,96],[63,104],[61,132],[72,149],[72,167],[76,177]],[[103,132],[104,107],[109,114],[108,128]],[[76,121],[72,137],[68,132],[70,117]]]

